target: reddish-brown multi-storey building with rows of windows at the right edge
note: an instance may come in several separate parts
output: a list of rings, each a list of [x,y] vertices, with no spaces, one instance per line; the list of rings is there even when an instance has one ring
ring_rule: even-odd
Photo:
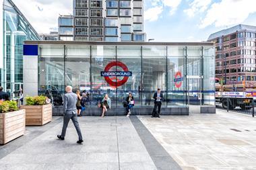
[[[256,83],[256,26],[238,25],[211,34],[216,43],[216,78],[226,84]]]

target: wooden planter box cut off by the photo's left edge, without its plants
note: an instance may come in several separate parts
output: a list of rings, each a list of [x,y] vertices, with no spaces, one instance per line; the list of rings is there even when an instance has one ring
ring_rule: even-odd
[[[0,144],[24,135],[26,110],[0,114]]]

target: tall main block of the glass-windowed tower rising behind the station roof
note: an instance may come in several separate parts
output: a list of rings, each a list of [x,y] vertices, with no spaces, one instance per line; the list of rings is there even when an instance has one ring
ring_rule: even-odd
[[[143,0],[73,0],[74,40],[140,41]]]

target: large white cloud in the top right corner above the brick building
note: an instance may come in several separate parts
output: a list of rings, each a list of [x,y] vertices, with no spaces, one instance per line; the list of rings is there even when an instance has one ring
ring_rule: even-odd
[[[241,24],[251,13],[256,12],[256,1],[222,0],[214,3],[202,19],[200,28],[214,24],[216,27]]]

